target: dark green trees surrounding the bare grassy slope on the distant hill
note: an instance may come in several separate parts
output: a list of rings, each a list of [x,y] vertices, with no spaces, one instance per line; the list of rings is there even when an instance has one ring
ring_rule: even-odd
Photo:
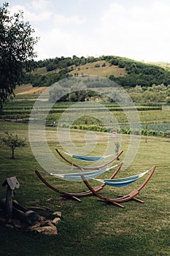
[[[156,64],[146,64],[141,61],[134,61],[131,59],[118,57],[118,56],[100,56],[94,58],[90,56],[85,57],[56,57],[55,59],[45,59],[41,61],[34,61],[32,65],[35,70],[46,67],[47,74],[39,75],[36,73],[26,73],[25,83],[31,83],[33,86],[50,86],[51,84],[67,78],[70,75],[69,72],[74,70],[74,67],[78,67],[84,64],[106,61],[110,66],[115,65],[120,69],[125,69],[127,75],[121,77],[115,77],[109,75],[110,80],[114,80],[115,83],[120,84],[123,87],[135,87],[135,86],[152,86],[153,84],[158,86],[163,84],[164,86],[170,85],[170,69],[167,67],[161,67]],[[53,72],[55,70],[55,72]],[[76,73],[74,75],[77,75]]]

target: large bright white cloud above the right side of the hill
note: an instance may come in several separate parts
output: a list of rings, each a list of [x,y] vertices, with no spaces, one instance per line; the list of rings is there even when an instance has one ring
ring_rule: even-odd
[[[128,7],[112,3],[101,17],[102,44],[111,54],[146,61],[170,59],[170,4]]]

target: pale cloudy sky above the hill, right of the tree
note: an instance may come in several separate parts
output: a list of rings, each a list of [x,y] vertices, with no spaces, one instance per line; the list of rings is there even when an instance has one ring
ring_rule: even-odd
[[[38,59],[123,56],[170,62],[169,0],[9,0],[40,37]]]

